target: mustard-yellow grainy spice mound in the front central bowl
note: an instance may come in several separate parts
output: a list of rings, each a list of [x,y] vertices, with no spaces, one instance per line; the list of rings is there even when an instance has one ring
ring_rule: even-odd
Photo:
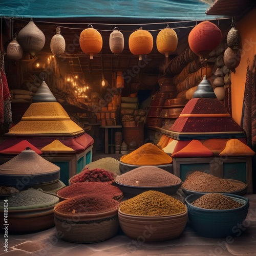
[[[163,216],[182,214],[186,210],[181,201],[154,190],[148,190],[120,204],[124,214],[139,216]]]

